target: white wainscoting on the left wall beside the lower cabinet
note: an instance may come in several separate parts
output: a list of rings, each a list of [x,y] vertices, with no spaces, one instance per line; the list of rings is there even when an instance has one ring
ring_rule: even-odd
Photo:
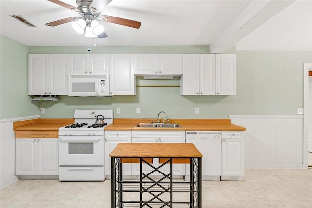
[[[15,175],[15,133],[13,122],[39,118],[29,116],[0,120],[0,190],[19,180]]]

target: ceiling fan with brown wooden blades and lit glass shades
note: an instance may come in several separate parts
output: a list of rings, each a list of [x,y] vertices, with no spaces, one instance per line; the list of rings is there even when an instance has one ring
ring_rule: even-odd
[[[99,24],[97,19],[137,29],[141,26],[141,22],[138,21],[108,15],[101,15],[101,11],[112,0],[76,0],[77,8],[60,0],[48,1],[56,3],[67,9],[74,10],[78,12],[81,17],[68,17],[65,19],[59,19],[57,21],[46,23],[45,25],[54,27],[64,23],[72,22],[73,28],[78,33],[85,34],[85,36],[87,37],[107,37],[107,34],[104,32],[104,26]]]

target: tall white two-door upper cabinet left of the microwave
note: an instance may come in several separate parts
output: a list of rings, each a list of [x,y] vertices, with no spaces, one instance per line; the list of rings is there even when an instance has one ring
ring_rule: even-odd
[[[68,55],[28,56],[29,95],[67,95]]]

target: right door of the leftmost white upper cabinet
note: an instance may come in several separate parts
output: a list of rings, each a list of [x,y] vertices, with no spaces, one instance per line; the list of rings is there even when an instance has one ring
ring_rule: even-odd
[[[68,55],[49,55],[49,95],[67,95]]]

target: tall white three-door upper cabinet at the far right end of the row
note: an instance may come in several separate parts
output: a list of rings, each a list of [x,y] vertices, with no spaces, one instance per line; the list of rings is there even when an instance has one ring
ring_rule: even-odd
[[[235,95],[236,54],[184,54],[180,84],[180,95]]]

